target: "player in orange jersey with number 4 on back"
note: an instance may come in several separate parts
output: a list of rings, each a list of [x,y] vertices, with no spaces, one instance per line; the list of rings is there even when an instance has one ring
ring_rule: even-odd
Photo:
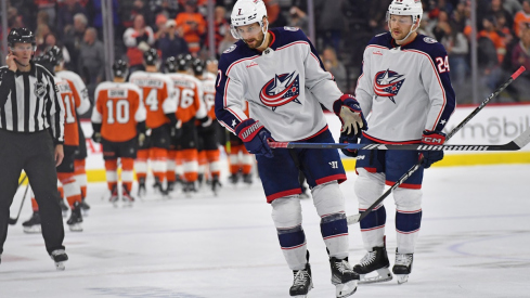
[[[135,164],[139,180],[139,195],[145,193],[145,178],[147,174],[146,160],[151,157],[152,169],[155,176],[155,189],[163,195],[167,190],[163,187],[166,178],[167,155],[169,150],[170,131],[177,126],[177,98],[171,80],[158,72],[158,53],[155,49],[144,52],[145,72],[134,72],[129,80],[140,87],[143,92],[147,118],[145,124],[151,129],[151,150],[138,152]]]

